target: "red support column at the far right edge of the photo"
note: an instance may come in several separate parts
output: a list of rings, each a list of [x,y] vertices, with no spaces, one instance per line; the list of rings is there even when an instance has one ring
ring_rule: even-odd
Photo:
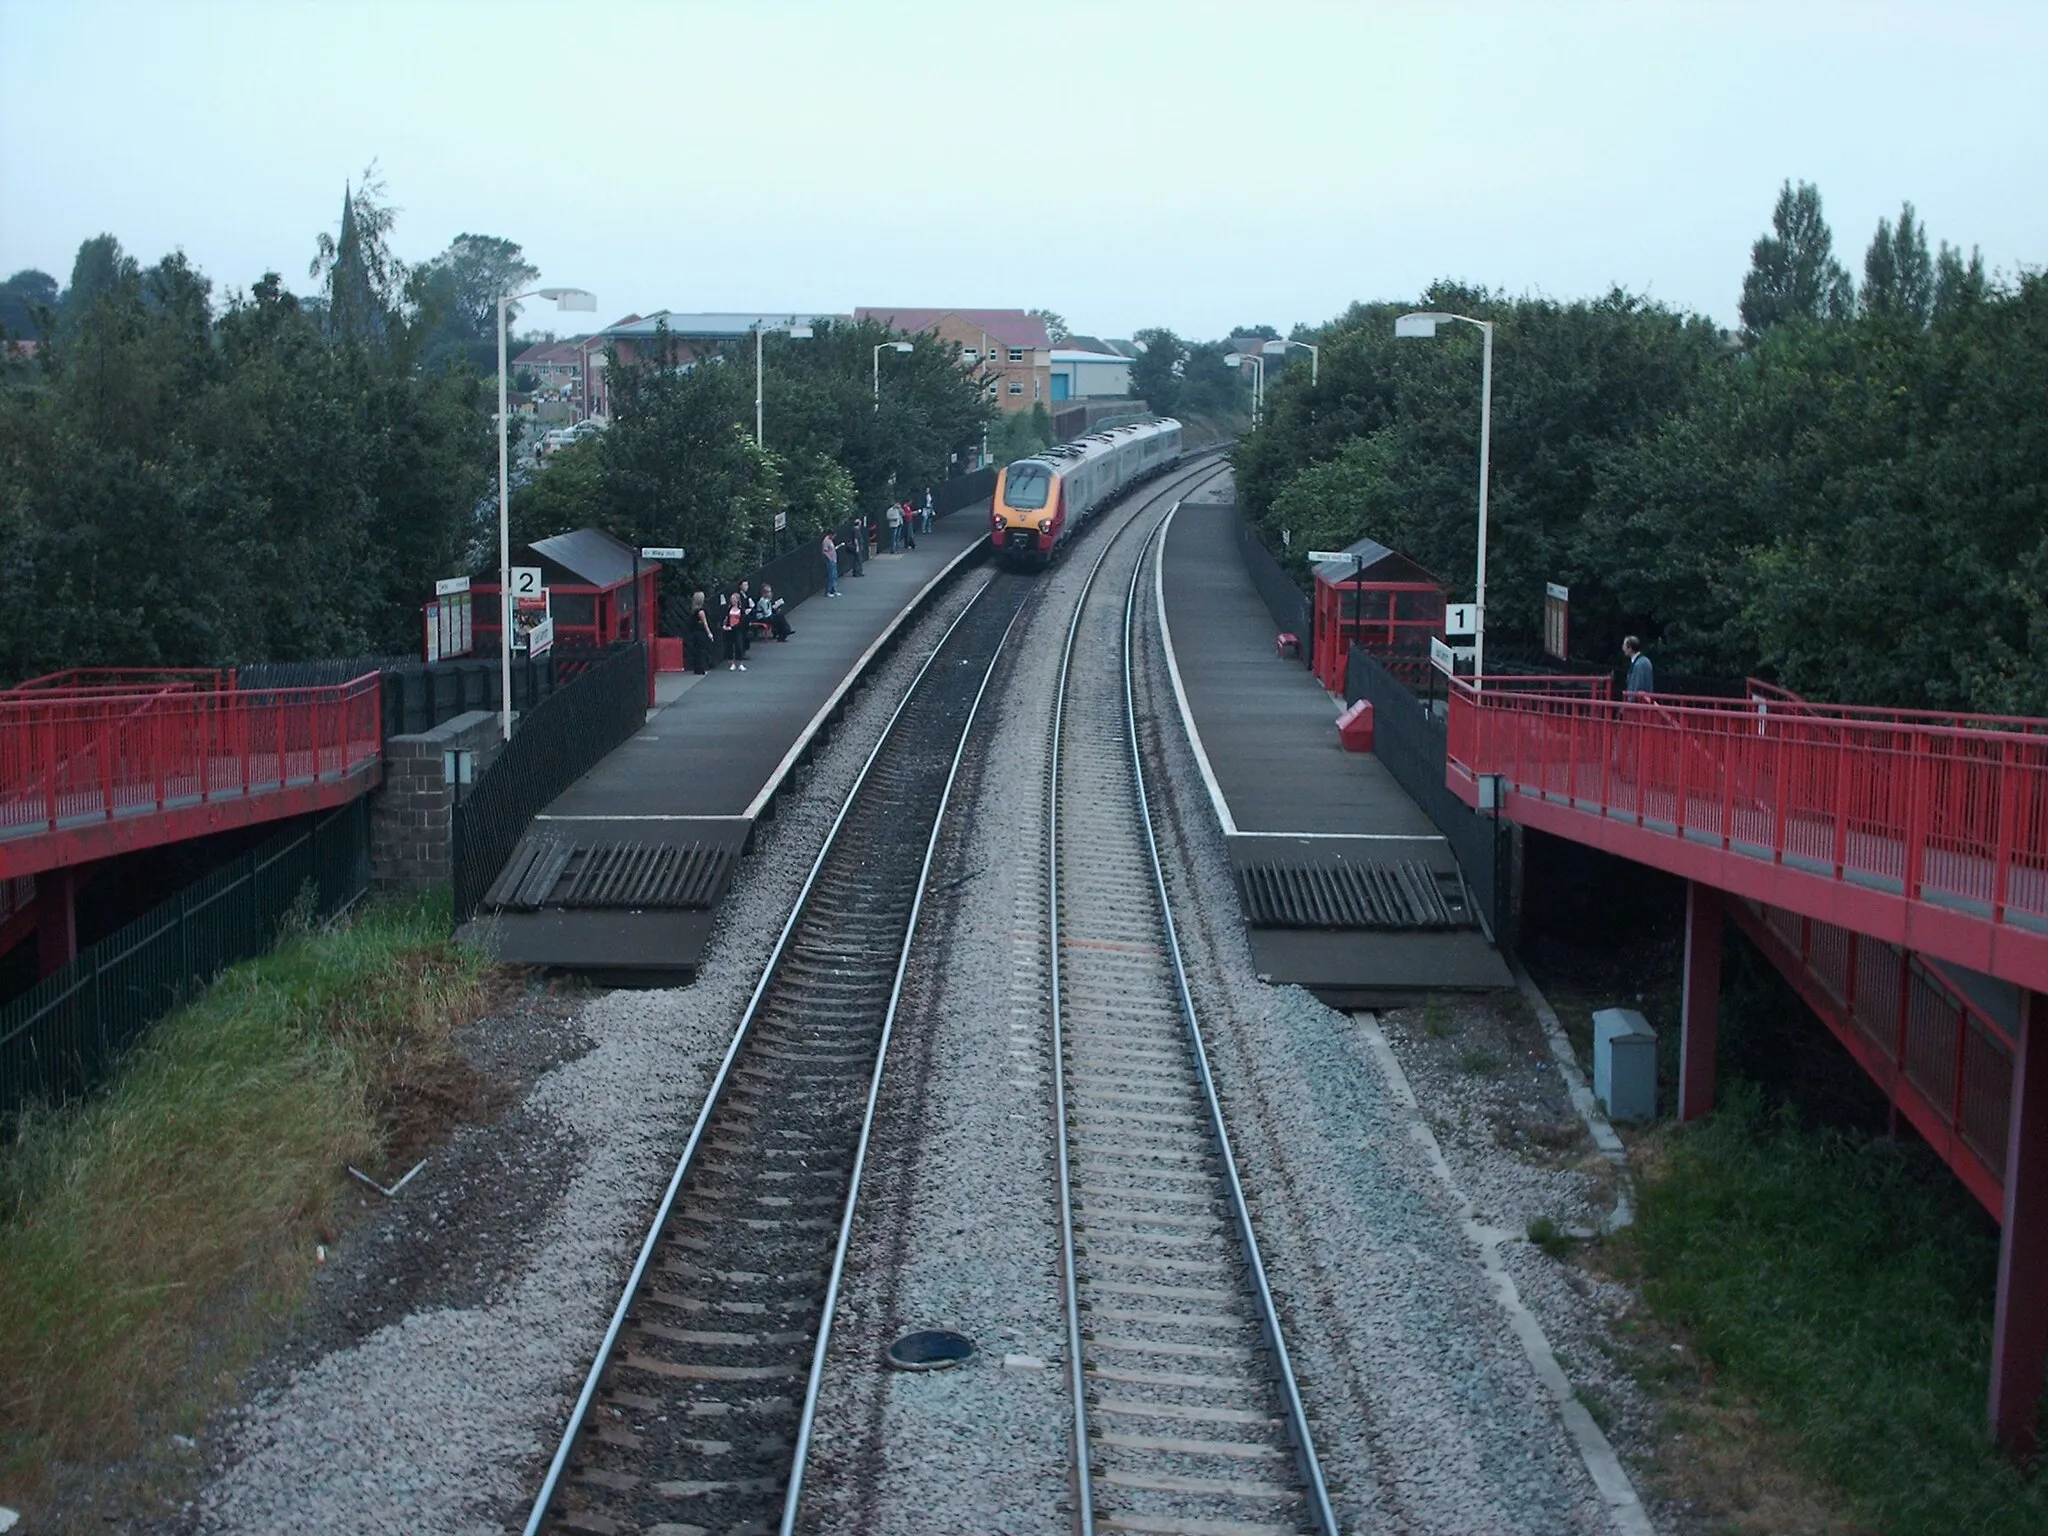
[[[2048,993],[2019,993],[2013,1118],[2005,1139],[1999,1305],[1991,1329],[1991,1430],[2032,1456],[2048,1370]]]

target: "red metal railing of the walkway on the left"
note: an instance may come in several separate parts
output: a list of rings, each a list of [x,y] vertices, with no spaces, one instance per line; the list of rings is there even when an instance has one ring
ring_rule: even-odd
[[[0,838],[346,778],[381,754],[377,674],[53,674],[0,692]]]

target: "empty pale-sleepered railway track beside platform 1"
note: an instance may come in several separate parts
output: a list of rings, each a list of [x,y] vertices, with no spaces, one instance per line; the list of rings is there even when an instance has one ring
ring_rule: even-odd
[[[1157,526],[1098,557],[1053,723],[1073,1524],[1079,1536],[1335,1536],[1153,840],[1130,633]],[[1118,592],[1104,578],[1124,569]]]

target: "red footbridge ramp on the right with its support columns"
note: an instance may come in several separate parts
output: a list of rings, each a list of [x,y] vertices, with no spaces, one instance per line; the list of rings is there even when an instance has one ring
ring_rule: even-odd
[[[1989,1413],[2034,1450],[2048,1358],[2048,721],[1606,678],[1452,684],[1468,805],[1686,881],[1679,1116],[1714,1102],[1735,922],[2001,1223]]]

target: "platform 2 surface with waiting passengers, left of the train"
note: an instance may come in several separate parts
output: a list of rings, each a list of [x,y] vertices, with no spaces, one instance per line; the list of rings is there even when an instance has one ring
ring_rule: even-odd
[[[983,557],[987,506],[858,578],[842,559],[840,596],[788,608],[793,637],[756,639],[745,672],[657,674],[647,725],[535,817],[461,938],[612,985],[688,981],[756,823],[868,670]]]

